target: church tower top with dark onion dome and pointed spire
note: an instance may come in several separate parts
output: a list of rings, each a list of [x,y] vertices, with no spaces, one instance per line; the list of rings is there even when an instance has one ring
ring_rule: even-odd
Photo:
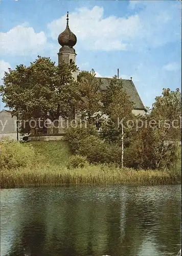
[[[64,61],[67,64],[75,62],[76,53],[73,48],[76,45],[77,37],[69,28],[69,12],[67,12],[66,29],[58,36],[58,42],[62,46],[58,53],[58,64]]]

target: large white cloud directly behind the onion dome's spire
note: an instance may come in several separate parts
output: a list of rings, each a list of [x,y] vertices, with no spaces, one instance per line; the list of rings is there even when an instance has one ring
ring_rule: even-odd
[[[57,39],[58,33],[65,29],[66,16],[48,24],[50,36]],[[138,15],[129,17],[104,17],[103,7],[85,7],[70,13],[70,29],[76,34],[78,44],[87,50],[127,50],[129,39],[137,36],[140,30]]]

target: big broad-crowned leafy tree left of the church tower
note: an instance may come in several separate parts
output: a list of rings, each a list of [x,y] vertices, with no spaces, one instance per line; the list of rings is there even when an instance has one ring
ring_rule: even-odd
[[[21,113],[22,118],[47,119],[54,122],[54,133],[58,132],[59,116],[69,117],[79,97],[77,82],[72,72],[77,67],[40,57],[29,67],[16,66],[5,72],[4,86],[1,87],[3,101],[13,110],[12,115]]]

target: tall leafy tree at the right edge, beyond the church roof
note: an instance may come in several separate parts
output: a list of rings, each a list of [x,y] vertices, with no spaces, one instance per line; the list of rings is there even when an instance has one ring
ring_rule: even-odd
[[[163,89],[162,96],[155,99],[151,119],[156,122],[156,133],[160,139],[157,147],[156,167],[161,168],[169,152],[171,155],[168,158],[168,164],[176,158],[175,143],[181,139],[181,93],[179,89],[175,92],[170,91],[169,88]]]

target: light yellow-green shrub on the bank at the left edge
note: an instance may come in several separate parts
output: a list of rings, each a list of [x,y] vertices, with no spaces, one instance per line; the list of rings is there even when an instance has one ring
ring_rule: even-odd
[[[0,142],[1,170],[25,167],[35,159],[35,152],[31,146],[9,140]]]

